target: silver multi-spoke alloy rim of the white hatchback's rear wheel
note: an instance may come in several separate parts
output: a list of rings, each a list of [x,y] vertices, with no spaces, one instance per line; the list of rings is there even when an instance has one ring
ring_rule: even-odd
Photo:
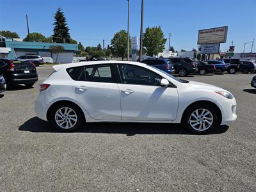
[[[71,108],[60,108],[55,113],[55,121],[62,129],[71,129],[77,123],[77,114]]]

